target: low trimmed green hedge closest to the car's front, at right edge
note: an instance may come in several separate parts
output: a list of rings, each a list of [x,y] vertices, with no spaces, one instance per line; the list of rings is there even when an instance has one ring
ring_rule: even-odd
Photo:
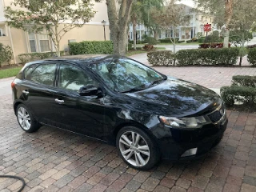
[[[226,106],[233,106],[234,102],[255,104],[256,89],[250,86],[222,86],[221,95]]]

